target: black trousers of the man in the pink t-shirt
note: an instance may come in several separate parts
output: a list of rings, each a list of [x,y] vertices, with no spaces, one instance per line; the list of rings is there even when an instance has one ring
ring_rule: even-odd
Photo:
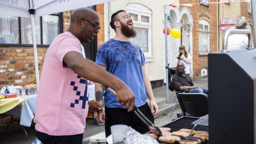
[[[35,136],[40,140],[43,144],[82,144],[83,143],[83,133],[76,135],[48,135],[47,133],[43,133],[35,130]]]

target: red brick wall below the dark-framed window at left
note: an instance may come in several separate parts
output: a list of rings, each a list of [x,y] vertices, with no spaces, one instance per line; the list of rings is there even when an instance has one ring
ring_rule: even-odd
[[[46,47],[38,47],[39,74],[46,51]],[[33,47],[0,46],[0,88],[8,84],[35,84],[34,66]]]

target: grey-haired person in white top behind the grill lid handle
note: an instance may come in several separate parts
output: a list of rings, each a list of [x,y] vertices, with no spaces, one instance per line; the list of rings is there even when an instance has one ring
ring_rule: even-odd
[[[236,29],[246,29],[247,23],[244,16],[237,20],[235,24]],[[248,37],[246,34],[235,33],[228,37],[228,50],[246,49],[248,47]],[[252,42],[252,47],[253,42]]]

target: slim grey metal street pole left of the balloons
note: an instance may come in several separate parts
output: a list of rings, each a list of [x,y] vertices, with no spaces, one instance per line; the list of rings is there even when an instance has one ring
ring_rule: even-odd
[[[165,5],[166,7],[166,5]],[[165,10],[165,8],[164,8]],[[167,14],[165,13],[165,69],[166,69],[166,103],[169,103],[169,83],[168,83],[168,47],[167,47]]]

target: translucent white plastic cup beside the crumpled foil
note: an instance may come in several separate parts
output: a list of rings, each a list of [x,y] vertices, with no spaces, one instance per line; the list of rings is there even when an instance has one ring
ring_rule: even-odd
[[[126,133],[128,131],[127,125],[114,125],[110,127],[113,138],[113,144],[122,143],[126,139]]]

